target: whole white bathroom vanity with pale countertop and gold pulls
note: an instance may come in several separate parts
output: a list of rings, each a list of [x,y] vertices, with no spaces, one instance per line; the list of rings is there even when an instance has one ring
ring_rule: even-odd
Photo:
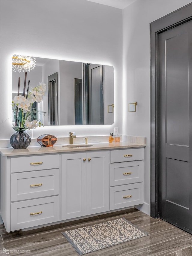
[[[8,231],[143,203],[145,144],[1,148],[1,216]]]

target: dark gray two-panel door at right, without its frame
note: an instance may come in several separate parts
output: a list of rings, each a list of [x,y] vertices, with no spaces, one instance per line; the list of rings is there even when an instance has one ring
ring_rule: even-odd
[[[186,231],[192,212],[191,38],[192,21],[159,34],[159,215]]]

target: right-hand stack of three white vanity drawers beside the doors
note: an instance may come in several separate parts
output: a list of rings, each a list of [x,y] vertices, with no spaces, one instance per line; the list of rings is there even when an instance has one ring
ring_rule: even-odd
[[[110,152],[110,210],[143,203],[144,149]]]

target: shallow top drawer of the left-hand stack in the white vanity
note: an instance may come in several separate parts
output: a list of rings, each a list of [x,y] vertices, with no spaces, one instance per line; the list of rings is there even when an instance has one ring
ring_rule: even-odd
[[[11,172],[59,168],[59,155],[36,155],[11,158]]]

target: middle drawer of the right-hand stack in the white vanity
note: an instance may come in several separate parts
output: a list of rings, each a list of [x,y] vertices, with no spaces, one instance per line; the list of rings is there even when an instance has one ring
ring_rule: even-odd
[[[143,181],[143,161],[110,164],[110,186]]]

